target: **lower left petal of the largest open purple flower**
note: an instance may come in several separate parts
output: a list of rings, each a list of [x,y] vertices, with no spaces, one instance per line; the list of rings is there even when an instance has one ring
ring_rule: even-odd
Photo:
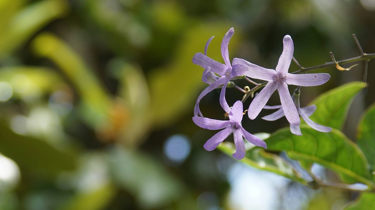
[[[267,83],[266,87],[261,90],[261,92],[255,96],[254,100],[251,102],[249,106],[249,118],[254,120],[259,112],[263,109],[263,107],[267,104],[268,99],[270,99],[271,95],[275,90],[278,88],[278,84],[270,81]]]

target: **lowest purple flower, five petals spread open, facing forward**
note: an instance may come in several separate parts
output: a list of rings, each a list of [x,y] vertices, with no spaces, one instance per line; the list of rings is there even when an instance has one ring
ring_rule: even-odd
[[[205,117],[193,117],[194,123],[204,129],[208,130],[224,130],[216,133],[212,138],[208,139],[204,144],[204,148],[208,151],[214,150],[224,139],[226,139],[231,133],[234,136],[234,144],[236,145],[236,152],[233,154],[233,157],[241,160],[245,157],[245,143],[243,142],[242,136],[245,137],[250,143],[263,146],[267,148],[266,143],[260,138],[252,135],[243,129],[241,125],[242,115],[243,115],[242,102],[237,101],[234,103],[233,108],[229,111],[229,120],[211,120]]]

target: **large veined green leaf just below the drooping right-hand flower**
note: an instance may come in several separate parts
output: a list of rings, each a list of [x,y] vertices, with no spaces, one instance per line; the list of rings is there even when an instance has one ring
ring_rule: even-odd
[[[303,136],[293,135],[289,128],[278,130],[265,140],[266,151],[285,150],[295,160],[318,163],[352,181],[375,186],[362,151],[339,130],[322,133],[302,125],[301,131]]]

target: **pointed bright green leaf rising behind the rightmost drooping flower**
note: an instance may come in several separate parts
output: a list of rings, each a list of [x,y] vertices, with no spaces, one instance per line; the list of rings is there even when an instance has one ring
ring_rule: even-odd
[[[341,130],[354,96],[366,86],[367,84],[363,82],[351,82],[323,93],[310,103],[317,105],[317,110],[310,119]]]

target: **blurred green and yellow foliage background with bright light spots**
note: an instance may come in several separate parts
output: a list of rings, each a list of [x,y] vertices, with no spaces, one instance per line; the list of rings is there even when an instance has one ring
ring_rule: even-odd
[[[275,68],[289,34],[297,61],[320,65],[332,61],[330,51],[336,60],[360,55],[353,33],[374,53],[374,20],[375,0],[1,0],[0,209],[342,209],[358,194],[312,190],[205,151],[216,131],[191,120],[207,86],[191,60],[214,35],[208,56],[223,62],[220,43],[234,27],[230,59]],[[331,80],[302,87],[302,106],[362,81],[359,64],[316,71]],[[369,62],[369,86],[345,125],[352,140],[374,102],[374,68]],[[228,89],[226,99],[242,96]],[[274,94],[269,105],[276,104]],[[223,119],[219,90],[201,101],[201,111]],[[272,133],[288,123],[244,118],[243,126]]]

